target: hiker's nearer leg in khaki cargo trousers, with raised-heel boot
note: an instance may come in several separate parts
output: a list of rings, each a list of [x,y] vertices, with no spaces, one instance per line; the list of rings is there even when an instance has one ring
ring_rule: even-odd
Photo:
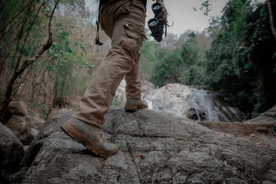
[[[111,2],[115,8],[122,9],[121,6],[116,6],[114,1]],[[117,1],[117,3],[121,2]],[[119,83],[124,75],[132,70],[132,65],[139,57],[139,48],[144,39],[146,14],[143,3],[140,0],[126,0],[126,2],[129,6],[126,7],[126,11],[129,8],[129,13],[117,15],[112,23],[112,48],[108,56],[99,66],[97,74],[83,95],[78,112],[72,119],[61,125],[61,129],[72,139],[83,143],[99,156],[110,156],[116,154],[118,150],[117,145],[105,143],[101,138],[103,116],[108,111]],[[109,9],[103,10],[103,14],[115,12]],[[106,19],[110,17],[106,16]],[[137,32],[137,30],[143,30],[143,32]]]

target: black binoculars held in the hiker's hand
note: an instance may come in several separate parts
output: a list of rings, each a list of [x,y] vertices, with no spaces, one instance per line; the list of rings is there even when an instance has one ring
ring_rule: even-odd
[[[153,3],[151,9],[155,14],[155,18],[148,21],[148,28],[150,28],[151,36],[154,37],[156,41],[160,42],[162,41],[164,25],[166,25],[166,22],[165,20],[159,21],[156,17],[157,14],[162,12],[162,5],[161,3]]]

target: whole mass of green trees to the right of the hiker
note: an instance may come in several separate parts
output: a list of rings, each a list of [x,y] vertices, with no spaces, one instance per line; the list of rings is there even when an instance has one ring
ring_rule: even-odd
[[[209,1],[204,2],[202,7],[208,10]],[[271,5],[275,10],[276,2]],[[155,85],[201,85],[221,93],[253,116],[275,105],[276,43],[266,3],[228,1],[223,15],[213,19],[208,32],[215,39],[205,55],[197,42],[199,34],[193,32],[181,48],[160,49],[163,55],[155,64],[151,81]]]

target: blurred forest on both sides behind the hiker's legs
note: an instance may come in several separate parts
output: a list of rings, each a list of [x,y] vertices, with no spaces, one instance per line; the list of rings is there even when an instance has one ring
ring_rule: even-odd
[[[97,12],[83,0],[4,0],[0,9],[1,121],[13,99],[43,119],[55,108],[77,109],[110,49],[102,31],[105,44],[95,45]],[[145,41],[141,79],[213,90],[257,116],[276,104],[275,10],[276,1],[228,0],[202,32]]]

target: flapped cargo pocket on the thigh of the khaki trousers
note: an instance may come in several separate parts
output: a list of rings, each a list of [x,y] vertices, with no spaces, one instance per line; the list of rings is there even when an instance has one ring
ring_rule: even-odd
[[[127,37],[120,44],[124,50],[128,51],[130,57],[137,61],[139,59],[139,50],[146,36],[144,36],[144,33],[137,32],[130,23],[124,23],[124,31],[126,31]]]

